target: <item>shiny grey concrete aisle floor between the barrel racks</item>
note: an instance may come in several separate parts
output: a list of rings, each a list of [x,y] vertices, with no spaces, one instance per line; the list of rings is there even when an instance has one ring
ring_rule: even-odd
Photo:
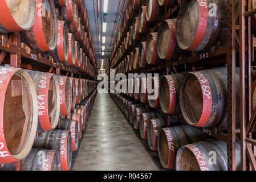
[[[72,170],[161,170],[156,152],[149,151],[109,94],[97,94]]]

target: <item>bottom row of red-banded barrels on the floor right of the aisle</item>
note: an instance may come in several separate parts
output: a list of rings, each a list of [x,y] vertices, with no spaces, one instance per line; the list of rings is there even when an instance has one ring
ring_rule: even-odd
[[[177,171],[227,170],[226,143],[185,125],[182,115],[168,115],[124,94],[111,94],[148,147],[157,151],[163,168]],[[237,169],[240,146],[236,143]]]

